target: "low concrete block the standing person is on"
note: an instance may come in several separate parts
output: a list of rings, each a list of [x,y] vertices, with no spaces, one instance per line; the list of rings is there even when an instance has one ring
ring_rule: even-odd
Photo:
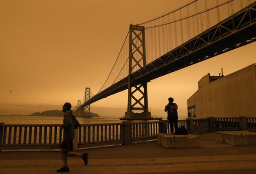
[[[159,142],[164,148],[200,147],[198,135],[159,134]]]

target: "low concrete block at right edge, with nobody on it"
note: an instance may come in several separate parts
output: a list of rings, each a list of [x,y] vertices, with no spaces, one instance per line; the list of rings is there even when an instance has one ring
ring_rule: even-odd
[[[216,141],[233,146],[256,145],[256,132],[221,131],[217,132]]]

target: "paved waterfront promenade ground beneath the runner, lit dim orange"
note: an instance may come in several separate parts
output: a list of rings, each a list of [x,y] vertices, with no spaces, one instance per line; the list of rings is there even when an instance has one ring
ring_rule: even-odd
[[[68,157],[69,173],[256,173],[256,146],[215,141],[215,132],[199,134],[200,148],[165,149],[156,141],[91,148],[89,164]],[[56,173],[57,151],[2,151],[0,173]]]

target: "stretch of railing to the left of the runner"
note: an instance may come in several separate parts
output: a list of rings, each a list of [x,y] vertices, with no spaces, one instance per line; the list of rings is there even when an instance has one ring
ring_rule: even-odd
[[[0,146],[5,148],[58,148],[63,138],[61,124],[2,124]]]

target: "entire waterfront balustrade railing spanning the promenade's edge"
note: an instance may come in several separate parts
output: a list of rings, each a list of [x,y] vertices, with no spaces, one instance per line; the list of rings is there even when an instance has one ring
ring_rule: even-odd
[[[123,121],[121,123],[81,124],[75,132],[74,149],[155,140],[158,133],[170,133],[166,120]],[[255,117],[187,118],[178,120],[189,133],[206,131],[256,131]],[[61,124],[0,123],[1,149],[57,149],[63,140]]]

